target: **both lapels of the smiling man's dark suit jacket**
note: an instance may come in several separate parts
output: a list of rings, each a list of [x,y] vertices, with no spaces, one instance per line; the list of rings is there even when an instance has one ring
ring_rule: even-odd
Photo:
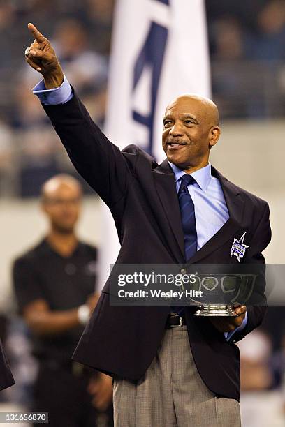
[[[196,252],[189,262],[198,262],[210,253],[214,252],[217,248],[223,245],[228,239],[238,232],[242,222],[244,211],[244,200],[238,189],[233,186],[222,174],[220,174],[214,167],[212,167],[212,175],[219,179],[221,189],[223,190],[226,205],[228,207],[229,218],[221,229],[214,234],[214,236],[207,241],[207,243]],[[182,230],[180,207],[178,203],[175,175],[173,170],[168,164],[168,160],[156,167],[154,170],[154,183],[156,191],[161,201],[163,211],[168,219],[168,225],[172,230],[175,237],[175,248],[173,248],[173,239],[169,239],[169,233],[165,234],[170,248],[173,248],[173,253],[179,262],[185,262],[184,258],[184,234]]]

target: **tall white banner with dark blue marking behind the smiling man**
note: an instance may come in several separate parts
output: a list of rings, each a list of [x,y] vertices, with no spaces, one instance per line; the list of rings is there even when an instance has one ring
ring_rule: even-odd
[[[105,134],[120,149],[137,144],[160,163],[166,106],[184,92],[210,96],[203,0],[117,0],[112,31]],[[119,241],[102,209],[98,290]]]

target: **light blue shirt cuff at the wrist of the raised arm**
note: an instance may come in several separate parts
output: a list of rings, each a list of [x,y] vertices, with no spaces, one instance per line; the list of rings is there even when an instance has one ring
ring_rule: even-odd
[[[61,83],[61,86],[55,89],[45,89],[45,82],[41,80],[32,90],[34,95],[38,96],[43,104],[64,104],[73,97],[71,85],[68,83],[66,76],[64,76],[64,81]]]

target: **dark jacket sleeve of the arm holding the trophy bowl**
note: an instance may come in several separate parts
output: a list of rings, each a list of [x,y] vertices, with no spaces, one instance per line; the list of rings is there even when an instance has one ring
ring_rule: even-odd
[[[271,229],[269,221],[269,207],[268,203],[265,202],[263,211],[261,214],[261,219],[258,222],[254,236],[251,239],[251,246],[247,251],[247,264],[264,264],[265,270],[265,258],[262,255],[263,250],[268,246],[271,239]],[[253,329],[258,327],[265,316],[267,311],[266,298],[265,298],[265,277],[263,276],[263,282],[261,284],[263,292],[263,301],[261,305],[247,305],[247,324],[242,329],[242,331],[237,331],[233,336],[228,340],[229,343],[236,343],[249,334]]]

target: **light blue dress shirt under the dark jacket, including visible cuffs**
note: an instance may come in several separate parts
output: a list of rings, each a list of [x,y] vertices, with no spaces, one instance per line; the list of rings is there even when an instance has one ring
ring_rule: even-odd
[[[66,76],[64,76],[61,86],[56,89],[45,89],[44,80],[41,80],[33,88],[33,93],[38,96],[41,103],[52,105],[67,103],[73,97],[71,85],[68,83]],[[176,190],[178,193],[180,178],[185,172],[176,165],[173,165],[173,163],[169,162],[169,164],[175,174]],[[197,249],[199,250],[226,223],[228,220],[228,208],[226,207],[219,179],[212,177],[210,163],[193,172],[192,176],[195,178],[196,183],[189,185],[188,190],[195,207]],[[229,340],[236,331],[244,329],[246,324],[247,313],[239,327],[235,328],[234,331],[224,332],[226,340]]]

